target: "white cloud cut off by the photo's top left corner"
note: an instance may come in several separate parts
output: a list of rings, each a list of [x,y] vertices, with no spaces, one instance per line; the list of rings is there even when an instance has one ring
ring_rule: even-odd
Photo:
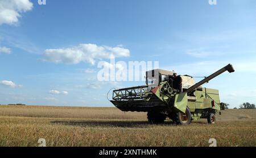
[[[1,0],[0,1],[0,25],[18,23],[23,12],[32,10],[33,3],[30,0]]]

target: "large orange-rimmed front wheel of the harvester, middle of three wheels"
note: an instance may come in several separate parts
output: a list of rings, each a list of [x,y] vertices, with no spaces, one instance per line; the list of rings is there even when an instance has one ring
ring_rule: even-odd
[[[191,123],[191,112],[187,107],[185,113],[177,112],[174,115],[172,115],[171,119],[177,125],[189,125]]]

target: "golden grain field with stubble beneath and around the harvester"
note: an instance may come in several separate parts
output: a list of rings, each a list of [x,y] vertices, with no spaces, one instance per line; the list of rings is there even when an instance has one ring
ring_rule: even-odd
[[[225,110],[217,121],[151,125],[146,113],[116,108],[0,105],[0,146],[256,146],[256,110]]]

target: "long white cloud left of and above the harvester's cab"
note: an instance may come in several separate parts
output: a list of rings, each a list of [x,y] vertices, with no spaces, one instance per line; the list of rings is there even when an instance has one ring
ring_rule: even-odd
[[[47,49],[43,61],[55,63],[77,64],[86,62],[94,65],[97,60],[129,57],[129,49],[120,46],[97,46],[96,44],[80,44],[72,48]]]

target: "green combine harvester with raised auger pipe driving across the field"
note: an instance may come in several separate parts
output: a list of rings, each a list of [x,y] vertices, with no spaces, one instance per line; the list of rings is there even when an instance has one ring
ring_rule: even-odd
[[[200,118],[216,123],[216,113],[221,109],[218,90],[201,86],[225,71],[234,72],[233,66],[229,64],[198,83],[192,76],[183,75],[183,92],[173,88],[169,80],[174,72],[147,71],[145,86],[114,90],[111,102],[123,112],[147,112],[150,123],[163,123],[167,117],[178,125]]]

